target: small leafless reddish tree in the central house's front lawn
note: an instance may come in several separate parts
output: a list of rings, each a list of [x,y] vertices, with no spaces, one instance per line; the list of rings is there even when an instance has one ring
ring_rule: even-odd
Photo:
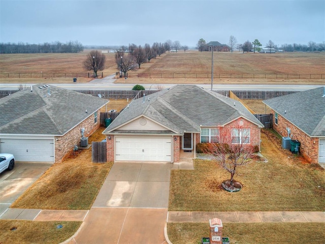
[[[219,127],[218,143],[209,143],[205,153],[230,173],[229,187],[234,186],[234,176],[238,166],[247,165],[253,157],[254,147],[250,145],[250,132],[235,123],[234,128]]]

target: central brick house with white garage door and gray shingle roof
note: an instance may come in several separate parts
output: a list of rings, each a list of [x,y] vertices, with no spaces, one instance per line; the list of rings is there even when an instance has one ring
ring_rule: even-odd
[[[240,102],[196,85],[176,85],[132,101],[103,134],[108,161],[179,162],[181,150],[196,157],[196,145],[217,142],[219,130],[259,148],[261,128]]]

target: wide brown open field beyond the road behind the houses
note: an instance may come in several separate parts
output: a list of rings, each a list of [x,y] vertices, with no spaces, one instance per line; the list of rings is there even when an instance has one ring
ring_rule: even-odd
[[[21,73],[21,77],[24,77],[19,78],[18,75],[16,75],[17,77],[13,75],[15,78],[0,76],[2,77],[0,82],[71,83],[72,78],[65,78],[63,74],[75,76],[74,74],[77,73],[91,73],[91,71],[84,70],[82,65],[88,51],[85,50],[82,53],[0,54],[0,73]],[[106,53],[105,55],[104,76],[118,72],[115,53]],[[325,83],[324,70],[324,53],[214,53],[214,83],[323,84]],[[26,75],[22,75],[23,73]],[[39,78],[28,77],[30,73],[37,74]],[[53,74],[62,75],[53,78]],[[149,74],[151,75],[149,76]],[[246,75],[244,78],[219,78],[219,74],[232,74],[232,77],[237,77],[234,74]],[[263,75],[256,75],[260,78],[252,78],[251,74],[278,74],[280,78],[273,76],[261,78],[264,77]],[[304,78],[298,79],[297,76],[291,76],[287,79],[283,74],[300,74]],[[304,74],[318,75],[317,77],[323,74],[323,79],[310,78]],[[174,78],[172,78],[173,76]],[[78,82],[88,82],[89,80],[78,77]],[[141,69],[129,71],[128,79],[117,79],[116,82],[208,84],[211,82],[211,53],[198,51],[166,53],[151,59],[150,63],[142,64]]]

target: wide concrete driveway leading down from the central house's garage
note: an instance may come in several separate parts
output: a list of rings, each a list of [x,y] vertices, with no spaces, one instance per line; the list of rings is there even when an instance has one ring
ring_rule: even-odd
[[[114,163],[69,243],[165,243],[171,163]]]

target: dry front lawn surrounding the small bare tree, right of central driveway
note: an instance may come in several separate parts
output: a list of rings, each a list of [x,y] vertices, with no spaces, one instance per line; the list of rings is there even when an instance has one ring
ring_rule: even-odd
[[[172,170],[169,211],[324,211],[325,170],[282,149],[279,138],[262,133],[268,163],[238,168],[237,193],[219,185],[230,174],[217,163],[194,160],[194,170]]]

